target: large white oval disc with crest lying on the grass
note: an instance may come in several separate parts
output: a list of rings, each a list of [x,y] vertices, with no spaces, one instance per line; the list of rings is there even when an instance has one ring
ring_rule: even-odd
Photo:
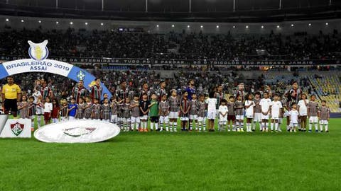
[[[97,120],[74,120],[45,125],[34,132],[39,141],[48,143],[94,143],[116,137],[117,125]]]

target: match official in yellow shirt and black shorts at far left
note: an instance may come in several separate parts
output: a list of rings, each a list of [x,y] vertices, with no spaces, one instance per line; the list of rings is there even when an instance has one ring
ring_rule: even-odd
[[[2,86],[1,100],[4,101],[4,112],[6,115],[11,114],[16,117],[18,111],[18,101],[21,99],[21,89],[16,83],[12,76],[7,77],[7,83]]]

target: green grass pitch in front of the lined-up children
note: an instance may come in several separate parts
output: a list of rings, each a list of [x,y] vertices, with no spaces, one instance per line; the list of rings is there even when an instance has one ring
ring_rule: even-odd
[[[121,132],[97,144],[0,139],[0,190],[341,190],[340,126]]]

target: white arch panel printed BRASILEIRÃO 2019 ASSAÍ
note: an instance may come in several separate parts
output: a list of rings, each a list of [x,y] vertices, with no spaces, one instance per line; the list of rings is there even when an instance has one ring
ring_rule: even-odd
[[[34,60],[34,59],[18,59],[11,62],[4,62],[4,69],[9,75],[21,74],[24,72],[48,72],[67,76],[71,69],[72,64],[59,62],[53,59]]]

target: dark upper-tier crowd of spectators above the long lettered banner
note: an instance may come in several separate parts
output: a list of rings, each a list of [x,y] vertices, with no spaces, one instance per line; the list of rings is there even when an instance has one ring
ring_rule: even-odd
[[[125,33],[113,30],[7,30],[0,33],[0,54],[27,55],[27,40],[49,40],[53,57],[156,59],[333,59],[340,56],[341,37],[309,35],[232,35],[203,33]]]

